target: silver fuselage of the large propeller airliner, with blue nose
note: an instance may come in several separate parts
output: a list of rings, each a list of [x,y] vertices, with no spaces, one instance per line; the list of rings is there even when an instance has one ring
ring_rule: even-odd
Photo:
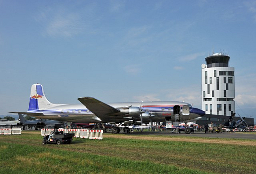
[[[181,109],[180,121],[190,120],[190,119],[200,119],[200,109],[192,108],[190,105],[190,114],[182,114],[182,106],[189,105],[183,102],[172,102],[172,101],[157,101],[157,102],[130,102],[130,103],[109,103],[110,106],[119,108],[123,106],[136,106],[141,107],[145,112],[149,112],[154,117],[152,117],[153,122],[165,122],[166,119],[171,119],[172,122],[175,121],[175,115],[173,113],[174,106],[178,106]],[[89,109],[87,109],[83,104],[62,104],[53,108],[41,109],[40,112],[44,115],[34,117],[50,119],[50,120],[59,120],[66,122],[125,122],[128,120],[140,121],[140,117],[123,117],[123,116],[105,116],[98,118],[94,115]],[[203,114],[203,112],[201,113]],[[150,122],[150,118],[143,117],[143,122]]]

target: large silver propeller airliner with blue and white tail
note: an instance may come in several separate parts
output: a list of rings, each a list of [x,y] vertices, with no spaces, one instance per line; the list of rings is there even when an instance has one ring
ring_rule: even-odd
[[[93,97],[78,98],[81,104],[53,104],[47,100],[41,84],[33,84],[29,108],[21,113],[31,117],[58,120],[62,122],[122,123],[131,125],[149,122],[175,122],[179,114],[181,122],[192,122],[202,118],[205,112],[191,104],[177,101],[151,101],[127,103],[103,103]],[[112,133],[119,133],[117,126]]]

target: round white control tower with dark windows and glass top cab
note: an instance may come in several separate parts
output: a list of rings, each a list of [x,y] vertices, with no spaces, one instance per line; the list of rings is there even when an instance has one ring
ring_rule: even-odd
[[[235,112],[234,67],[223,52],[212,53],[202,64],[202,110],[207,114],[231,116]]]

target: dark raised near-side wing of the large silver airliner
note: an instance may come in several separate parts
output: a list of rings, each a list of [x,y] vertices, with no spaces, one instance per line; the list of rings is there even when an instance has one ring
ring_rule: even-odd
[[[82,98],[78,98],[77,100],[79,100],[82,104],[84,104],[84,106],[86,106],[87,109],[92,111],[97,117],[120,115],[119,109],[116,109],[93,97],[82,97]]]

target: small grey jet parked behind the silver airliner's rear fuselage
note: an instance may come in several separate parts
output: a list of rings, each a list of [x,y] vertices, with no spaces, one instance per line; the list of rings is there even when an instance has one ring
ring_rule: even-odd
[[[35,120],[26,120],[25,117],[21,114],[18,113],[19,115],[19,120],[20,120],[20,126],[23,126],[23,130],[25,130],[25,126],[32,127],[35,126],[36,128],[42,128],[46,125],[54,125],[58,123],[63,123],[61,121],[56,121],[56,120],[47,120],[47,119],[35,119]]]

